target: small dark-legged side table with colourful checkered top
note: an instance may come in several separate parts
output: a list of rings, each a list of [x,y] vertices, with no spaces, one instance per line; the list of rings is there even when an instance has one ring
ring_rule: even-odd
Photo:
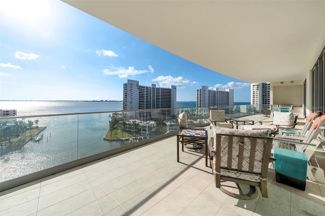
[[[208,131],[207,130],[190,130],[183,129],[177,134],[177,162],[179,162],[179,143],[184,145],[191,143],[192,145],[205,145],[205,165],[208,166]]]

